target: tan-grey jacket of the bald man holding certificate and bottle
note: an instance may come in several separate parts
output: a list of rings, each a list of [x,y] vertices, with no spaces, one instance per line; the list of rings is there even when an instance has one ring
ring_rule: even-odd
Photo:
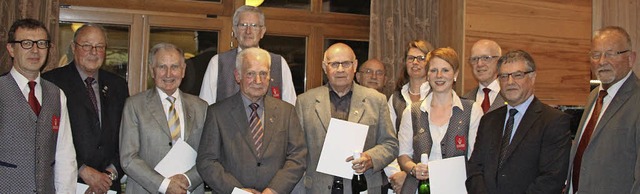
[[[373,169],[365,172],[368,193],[380,193],[382,169],[398,156],[395,136],[386,97],[376,90],[353,83],[349,121],[369,126],[364,152],[371,156]],[[331,119],[328,85],[311,89],[298,96],[296,112],[305,132],[309,154],[308,167],[303,178],[306,192],[330,193],[333,176],[316,171],[324,138]],[[345,157],[346,159],[346,157]],[[345,193],[351,193],[351,181],[344,181]]]

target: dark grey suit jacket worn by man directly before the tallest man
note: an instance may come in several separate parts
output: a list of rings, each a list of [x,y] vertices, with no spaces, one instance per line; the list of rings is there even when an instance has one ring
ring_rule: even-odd
[[[293,105],[264,97],[263,154],[256,156],[241,93],[209,106],[197,167],[214,193],[234,187],[291,193],[306,167],[307,147]]]

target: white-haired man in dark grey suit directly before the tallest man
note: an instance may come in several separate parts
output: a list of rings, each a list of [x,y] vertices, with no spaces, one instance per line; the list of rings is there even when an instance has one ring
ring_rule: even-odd
[[[291,193],[307,147],[293,105],[266,95],[269,52],[254,47],[236,60],[240,91],[209,106],[197,165],[216,193]]]

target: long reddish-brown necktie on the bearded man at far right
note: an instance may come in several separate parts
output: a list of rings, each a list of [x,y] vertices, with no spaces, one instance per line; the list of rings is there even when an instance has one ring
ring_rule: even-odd
[[[602,101],[604,97],[607,96],[607,90],[600,90],[598,94],[598,99],[596,100],[596,105],[593,106],[593,112],[591,112],[591,118],[589,118],[589,122],[587,126],[584,128],[584,132],[582,132],[582,137],[580,138],[580,143],[578,143],[578,151],[576,152],[576,157],[573,159],[573,174],[572,174],[572,183],[573,183],[573,192],[578,191],[578,183],[580,180],[580,165],[582,164],[582,155],[584,154],[584,150],[589,145],[589,141],[591,140],[591,134],[593,134],[593,130],[596,128],[596,124],[598,123],[598,119],[600,117],[600,111],[602,109]]]

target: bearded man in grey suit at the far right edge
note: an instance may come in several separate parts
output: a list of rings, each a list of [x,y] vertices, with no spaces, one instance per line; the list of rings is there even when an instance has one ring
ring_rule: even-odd
[[[640,193],[640,85],[629,34],[604,27],[591,40],[601,84],[587,100],[569,162],[570,193]]]

